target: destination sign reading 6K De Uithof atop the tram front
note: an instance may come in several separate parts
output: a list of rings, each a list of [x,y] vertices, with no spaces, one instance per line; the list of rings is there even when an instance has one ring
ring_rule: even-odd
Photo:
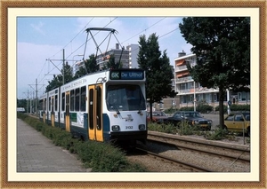
[[[143,70],[111,70],[110,80],[143,80]]]

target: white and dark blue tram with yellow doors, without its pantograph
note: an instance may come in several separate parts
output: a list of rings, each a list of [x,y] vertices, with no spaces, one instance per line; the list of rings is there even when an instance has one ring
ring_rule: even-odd
[[[147,138],[145,72],[114,69],[85,75],[40,97],[40,120],[82,139]]]

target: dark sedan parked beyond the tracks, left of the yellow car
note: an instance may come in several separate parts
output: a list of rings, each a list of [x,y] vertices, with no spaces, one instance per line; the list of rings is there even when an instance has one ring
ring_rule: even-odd
[[[181,122],[188,122],[191,126],[198,125],[203,129],[211,130],[213,121],[204,118],[201,114],[194,111],[178,111],[172,117],[164,120],[165,123],[172,123],[179,126]]]

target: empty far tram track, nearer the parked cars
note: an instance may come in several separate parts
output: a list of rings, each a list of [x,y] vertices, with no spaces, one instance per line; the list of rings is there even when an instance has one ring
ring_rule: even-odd
[[[148,141],[161,143],[166,146],[176,146],[178,149],[194,151],[199,154],[218,156],[221,159],[229,159],[233,162],[242,161],[250,163],[249,146],[226,145],[203,139],[184,138],[151,132],[148,135]]]

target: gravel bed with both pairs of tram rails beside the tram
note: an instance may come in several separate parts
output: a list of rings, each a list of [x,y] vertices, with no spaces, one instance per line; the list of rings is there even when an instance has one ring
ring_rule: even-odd
[[[127,154],[152,172],[249,172],[249,146],[149,131],[143,153]],[[140,149],[138,149],[140,150]]]

